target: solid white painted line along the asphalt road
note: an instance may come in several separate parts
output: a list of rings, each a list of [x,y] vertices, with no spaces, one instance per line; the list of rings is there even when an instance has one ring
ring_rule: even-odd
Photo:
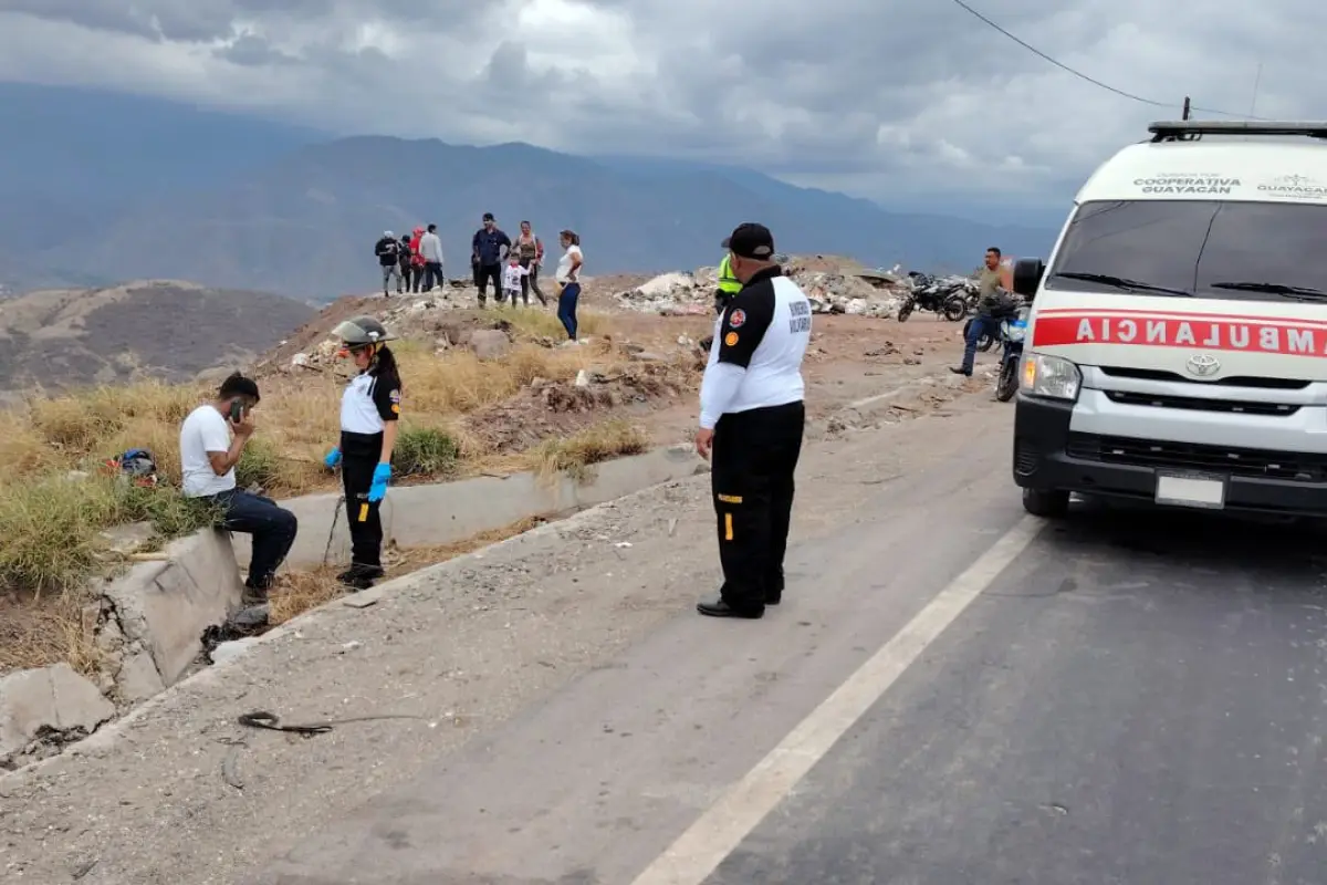
[[[1024,516],[995,541],[701,815],[633,885],[701,885],[926,646],[1023,552],[1040,527],[1040,520]]]

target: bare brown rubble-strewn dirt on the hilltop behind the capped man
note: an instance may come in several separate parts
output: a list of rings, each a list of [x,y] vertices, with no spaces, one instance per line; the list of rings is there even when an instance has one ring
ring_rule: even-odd
[[[786,271],[812,299],[816,312],[807,382],[812,418],[824,417],[860,397],[896,382],[942,379],[961,348],[961,325],[918,314],[896,322],[905,291],[897,272],[873,271],[837,256],[784,256]],[[573,385],[533,382],[510,401],[470,415],[467,429],[495,451],[516,450],[549,434],[567,434],[605,417],[624,417],[645,427],[653,442],[665,444],[690,438],[695,419],[695,389],[703,366],[695,346],[710,334],[715,268],[658,276],[614,275],[589,277],[581,295],[581,313],[602,317],[592,338],[606,338],[605,349],[630,354],[625,370],[610,369]],[[543,344],[560,344],[553,305],[522,310],[543,314],[536,322],[516,321],[503,310],[478,310],[476,293],[464,280],[454,280],[431,293],[399,299],[341,299],[293,333],[259,364],[263,374],[296,375],[330,361],[329,330],[341,320],[372,313],[393,332],[443,352],[470,348],[492,352],[494,326],[518,332],[544,332]],[[500,340],[496,346],[506,346]],[[620,356],[620,354],[617,354]],[[947,394],[928,402],[934,407]]]

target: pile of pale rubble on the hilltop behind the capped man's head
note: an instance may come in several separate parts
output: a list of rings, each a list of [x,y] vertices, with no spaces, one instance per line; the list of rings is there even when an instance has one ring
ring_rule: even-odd
[[[804,267],[798,259],[784,264],[784,272],[796,280],[815,313],[892,318],[898,313],[908,283],[893,271],[839,272]],[[718,268],[705,267],[694,273],[661,273],[634,289],[620,292],[621,306],[661,316],[706,316],[714,310]]]

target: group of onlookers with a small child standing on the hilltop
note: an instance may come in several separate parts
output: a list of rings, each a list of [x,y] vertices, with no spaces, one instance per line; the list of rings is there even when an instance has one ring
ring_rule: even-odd
[[[584,260],[580,235],[561,231],[559,235],[563,256],[557,264],[557,318],[567,334],[576,341],[576,305],[580,299],[580,268]],[[390,297],[391,284],[397,295],[431,292],[447,285],[443,276],[442,239],[438,226],[417,227],[411,234],[397,235],[384,231],[373,247],[382,269],[382,296]],[[492,212],[484,212],[483,224],[470,241],[470,268],[479,306],[488,305],[488,284],[494,287],[494,300],[516,306],[518,299],[529,306],[533,292],[541,305],[548,297],[539,288],[539,271],[544,264],[544,243],[535,235],[529,222],[520,223],[520,234],[512,240],[498,227]]]

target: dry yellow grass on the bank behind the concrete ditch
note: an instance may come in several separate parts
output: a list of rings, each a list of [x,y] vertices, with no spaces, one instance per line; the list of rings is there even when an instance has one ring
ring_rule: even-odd
[[[451,476],[491,462],[486,446],[462,427],[467,413],[502,403],[536,378],[569,381],[585,368],[605,368],[622,354],[606,342],[548,348],[537,340],[560,330],[543,310],[502,312],[518,344],[502,360],[470,352],[435,354],[402,341],[394,346],[405,378],[399,476]],[[609,320],[587,314],[587,334],[606,334]],[[338,437],[344,379],[333,372],[263,382],[257,433],[236,475],[269,494],[293,496],[332,486],[322,456]],[[32,398],[12,410],[0,439],[0,586],[42,594],[77,590],[101,561],[106,528],[150,520],[175,537],[210,515],[178,495],[179,425],[211,390],[199,385],[145,381]],[[610,421],[567,439],[548,439],[510,459],[508,468],[584,475],[608,458],[642,451],[644,434]],[[131,447],[157,459],[165,487],[123,484],[105,462]],[[77,472],[73,472],[77,471]]]

